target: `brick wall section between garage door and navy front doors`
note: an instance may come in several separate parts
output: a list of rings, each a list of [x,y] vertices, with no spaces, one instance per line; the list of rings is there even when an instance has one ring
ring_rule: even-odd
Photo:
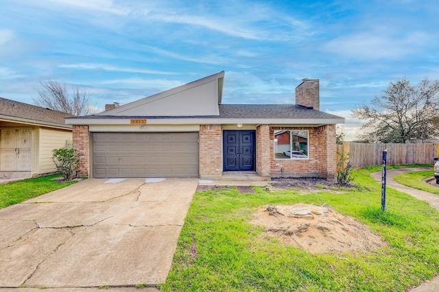
[[[222,176],[222,131],[219,124],[200,125],[200,178]]]

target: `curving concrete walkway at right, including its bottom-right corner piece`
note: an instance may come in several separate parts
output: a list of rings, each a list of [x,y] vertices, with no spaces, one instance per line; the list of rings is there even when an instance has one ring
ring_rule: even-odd
[[[427,191],[421,191],[419,189],[413,189],[412,187],[406,187],[405,185],[401,185],[397,183],[393,177],[397,174],[402,174],[404,172],[416,172],[421,170],[432,170],[431,168],[401,168],[399,170],[387,170],[386,176],[386,185],[387,187],[392,187],[398,191],[403,191],[406,194],[410,194],[419,200],[423,200],[425,202],[429,202],[432,207],[434,207],[439,212],[439,196],[431,194]],[[373,172],[372,178],[375,181],[381,183],[382,180],[382,172]],[[432,279],[431,281],[427,281],[420,286],[410,290],[411,292],[437,292],[439,291],[439,277]]]

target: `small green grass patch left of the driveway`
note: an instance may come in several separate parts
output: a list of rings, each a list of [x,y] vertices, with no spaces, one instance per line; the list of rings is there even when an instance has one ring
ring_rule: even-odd
[[[38,178],[27,178],[24,181],[16,181],[0,185],[0,209],[12,204],[19,204],[25,200],[47,194],[50,191],[61,189],[76,183],[69,181],[67,183],[58,183],[53,178],[59,177],[59,174],[50,176],[40,176]]]

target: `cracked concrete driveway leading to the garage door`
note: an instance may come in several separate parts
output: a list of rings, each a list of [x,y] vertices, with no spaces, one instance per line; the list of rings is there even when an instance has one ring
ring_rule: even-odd
[[[0,288],[165,282],[197,186],[198,179],[87,179],[1,209]]]

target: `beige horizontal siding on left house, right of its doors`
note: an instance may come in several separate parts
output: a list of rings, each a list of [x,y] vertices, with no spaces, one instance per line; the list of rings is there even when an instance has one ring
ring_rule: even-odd
[[[64,148],[66,140],[72,140],[71,131],[40,128],[39,131],[39,174],[56,171],[54,161],[52,161],[52,150]]]

